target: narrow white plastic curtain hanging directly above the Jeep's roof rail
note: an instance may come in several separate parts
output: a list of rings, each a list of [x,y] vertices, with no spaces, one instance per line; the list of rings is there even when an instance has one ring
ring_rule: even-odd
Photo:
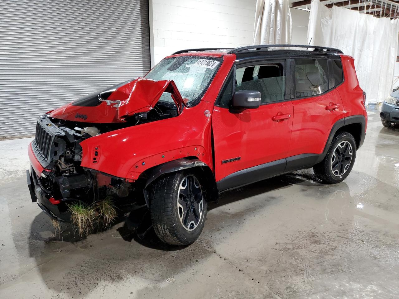
[[[292,19],[288,0],[257,0],[253,45],[291,42]]]

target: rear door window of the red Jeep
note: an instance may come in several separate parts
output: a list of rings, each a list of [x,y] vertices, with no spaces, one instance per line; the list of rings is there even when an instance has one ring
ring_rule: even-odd
[[[328,90],[327,59],[295,59],[296,97],[313,96]]]

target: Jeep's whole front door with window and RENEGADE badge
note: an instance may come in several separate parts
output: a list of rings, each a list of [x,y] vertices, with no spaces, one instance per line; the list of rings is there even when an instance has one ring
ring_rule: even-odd
[[[246,64],[229,77],[212,116],[215,177],[224,182],[219,190],[259,181],[268,171],[284,171],[293,120],[285,65],[285,60]],[[232,110],[238,90],[260,91],[261,106]]]

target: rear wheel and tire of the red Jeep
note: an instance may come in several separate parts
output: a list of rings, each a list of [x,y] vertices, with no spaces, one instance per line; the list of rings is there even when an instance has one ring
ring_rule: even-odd
[[[313,171],[325,184],[340,183],[349,175],[355,159],[355,139],[348,132],[340,132],[332,140],[326,157],[314,165]]]

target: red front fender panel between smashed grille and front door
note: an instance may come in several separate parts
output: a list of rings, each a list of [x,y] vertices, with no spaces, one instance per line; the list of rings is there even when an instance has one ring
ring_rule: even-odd
[[[212,104],[202,101],[193,108],[184,108],[174,118],[122,128],[84,140],[80,143],[83,148],[81,166],[129,179],[137,179],[149,166],[178,157],[196,156],[212,167],[211,118],[204,113],[212,108]],[[92,153],[99,144],[101,157],[93,164]],[[196,147],[201,151],[194,151]],[[182,149],[184,152],[178,155],[176,150]],[[143,161],[146,166],[141,165]]]

